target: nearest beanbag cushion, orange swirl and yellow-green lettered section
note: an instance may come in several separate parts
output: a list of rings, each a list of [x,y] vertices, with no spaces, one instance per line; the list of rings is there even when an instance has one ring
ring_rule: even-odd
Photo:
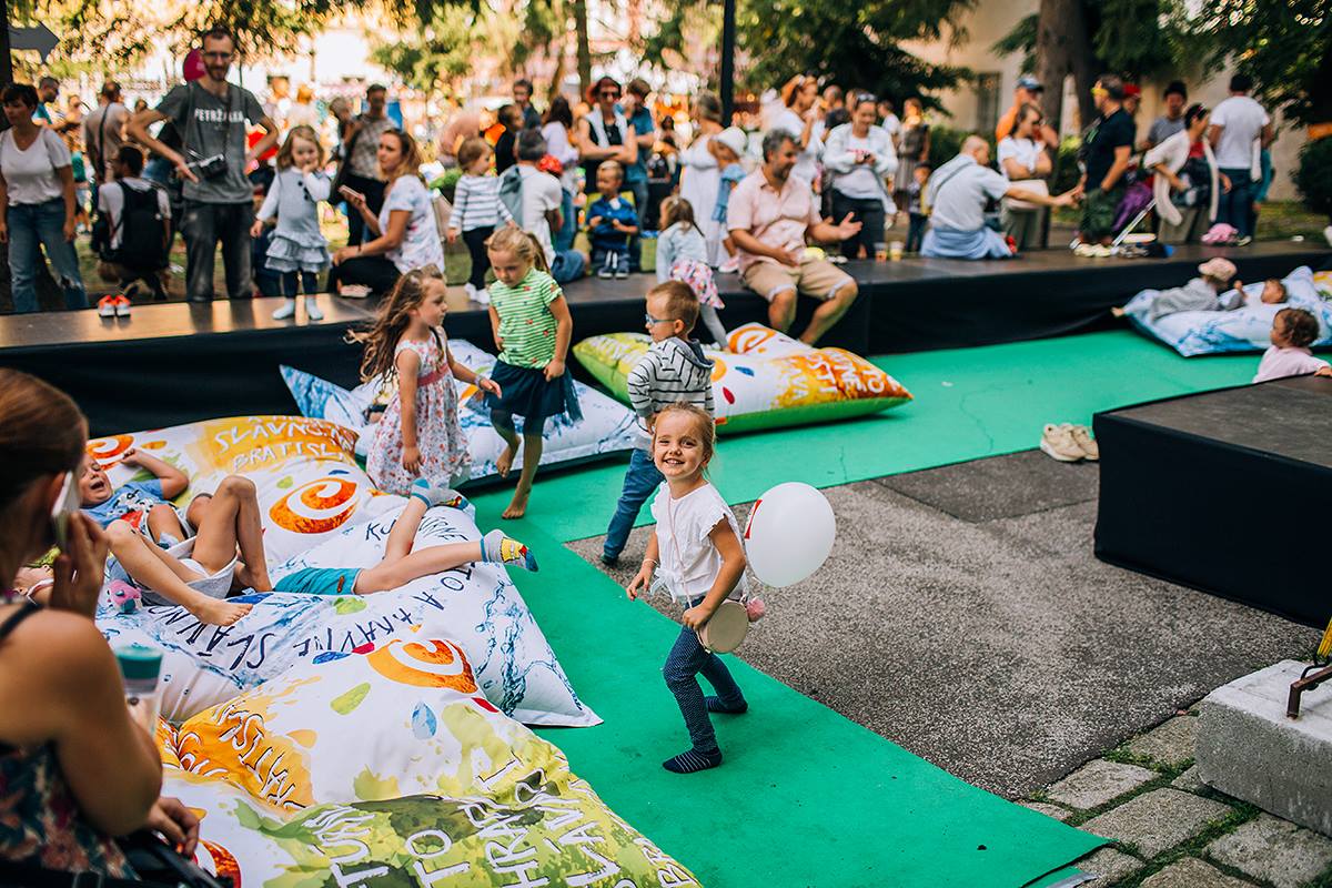
[[[242,888],[698,884],[424,631],[201,712],[163,759],[200,864]]]

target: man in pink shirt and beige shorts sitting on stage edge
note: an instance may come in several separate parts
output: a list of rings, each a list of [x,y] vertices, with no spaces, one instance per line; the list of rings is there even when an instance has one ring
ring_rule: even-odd
[[[810,184],[793,176],[799,149],[795,136],[774,129],[763,137],[763,165],[731,192],[726,228],[735,242],[745,285],[767,300],[769,324],[786,333],[795,322],[797,293],[822,305],[814,310],[801,341],[814,345],[855,301],[850,274],[821,252],[805,248],[805,238],[840,242],[860,230],[847,213],[840,224],[825,222],[819,198]]]

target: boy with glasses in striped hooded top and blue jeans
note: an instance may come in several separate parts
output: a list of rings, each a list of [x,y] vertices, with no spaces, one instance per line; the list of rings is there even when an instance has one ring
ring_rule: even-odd
[[[601,560],[614,567],[634,529],[638,510],[661,486],[663,478],[653,465],[649,423],[657,411],[681,401],[713,415],[713,362],[703,357],[697,339],[690,339],[698,324],[698,297],[687,284],[666,281],[647,290],[647,334],[653,345],[629,371],[629,403],[639,417],[638,441],[629,457],[629,471],[619,503],[606,530]]]

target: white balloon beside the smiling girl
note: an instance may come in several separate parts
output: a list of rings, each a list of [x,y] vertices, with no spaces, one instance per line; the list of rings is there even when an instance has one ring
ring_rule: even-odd
[[[814,487],[790,481],[759,497],[745,527],[745,553],[767,586],[791,586],[814,574],[832,551],[836,518]]]

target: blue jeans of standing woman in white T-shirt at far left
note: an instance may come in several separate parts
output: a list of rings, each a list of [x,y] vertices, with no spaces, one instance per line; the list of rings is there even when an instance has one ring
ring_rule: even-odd
[[[47,248],[56,284],[65,294],[65,308],[88,308],[88,293],[79,274],[79,253],[65,240],[65,200],[56,197],[43,204],[9,206],[8,225],[13,310],[37,310],[37,270],[41,268],[43,246]]]

